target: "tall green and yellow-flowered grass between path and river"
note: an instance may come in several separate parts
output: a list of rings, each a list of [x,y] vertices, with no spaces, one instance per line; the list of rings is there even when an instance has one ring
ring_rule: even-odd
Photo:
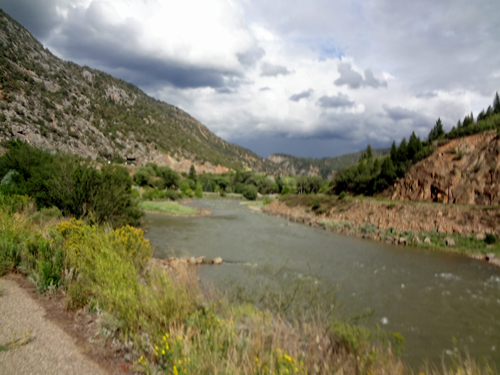
[[[0,228],[1,272],[31,275],[40,291],[66,290],[69,308],[98,312],[104,336],[133,344],[139,372],[409,371],[397,357],[403,341],[397,334],[349,324],[333,313],[272,312],[204,297],[191,271],[174,274],[152,266],[151,247],[140,229],[112,230],[75,219],[34,221],[29,213],[5,208],[0,208]],[[443,372],[489,373],[467,363]]]

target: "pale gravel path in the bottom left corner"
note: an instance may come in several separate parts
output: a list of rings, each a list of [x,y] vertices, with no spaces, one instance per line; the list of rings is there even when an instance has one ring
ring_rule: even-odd
[[[28,343],[0,351],[0,375],[106,375],[16,282],[0,278],[0,346],[30,332]],[[26,335],[25,335],[26,336]]]

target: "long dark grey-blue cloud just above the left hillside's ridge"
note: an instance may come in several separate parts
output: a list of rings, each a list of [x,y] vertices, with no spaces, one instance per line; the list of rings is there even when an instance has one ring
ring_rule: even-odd
[[[163,85],[178,88],[223,88],[227,79],[240,73],[203,68],[141,52],[142,28],[133,20],[112,25],[98,3],[88,9],[73,8],[51,45],[66,59],[116,74],[145,89]]]

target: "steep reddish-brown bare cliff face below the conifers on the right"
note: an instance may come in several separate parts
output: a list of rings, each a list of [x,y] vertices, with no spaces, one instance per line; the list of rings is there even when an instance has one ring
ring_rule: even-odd
[[[452,140],[398,181],[393,199],[500,204],[500,138],[496,132]]]

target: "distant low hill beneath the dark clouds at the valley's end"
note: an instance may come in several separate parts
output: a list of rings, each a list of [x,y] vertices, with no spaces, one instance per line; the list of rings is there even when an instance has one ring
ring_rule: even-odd
[[[321,176],[325,179],[333,178],[336,171],[356,164],[364,151],[335,156],[333,158],[302,158],[287,154],[272,154],[267,158],[269,161],[288,169],[297,176]],[[373,150],[373,156],[387,155],[389,148]]]

